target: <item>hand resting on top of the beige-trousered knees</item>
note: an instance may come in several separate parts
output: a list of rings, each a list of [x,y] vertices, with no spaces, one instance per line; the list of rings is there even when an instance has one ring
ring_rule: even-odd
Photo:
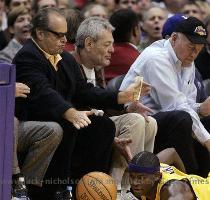
[[[129,113],[139,113],[139,114],[141,114],[147,122],[149,122],[149,119],[148,119],[148,116],[147,116],[148,112],[153,113],[153,111],[150,108],[148,108],[147,106],[144,106],[139,101],[135,101],[135,102],[129,104],[126,111],[129,112]]]

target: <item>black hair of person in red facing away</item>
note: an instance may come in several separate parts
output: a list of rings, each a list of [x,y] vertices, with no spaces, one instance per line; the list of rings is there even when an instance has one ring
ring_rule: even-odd
[[[131,9],[121,9],[114,12],[109,21],[115,27],[113,31],[115,42],[129,42],[133,28],[139,24],[137,14]]]

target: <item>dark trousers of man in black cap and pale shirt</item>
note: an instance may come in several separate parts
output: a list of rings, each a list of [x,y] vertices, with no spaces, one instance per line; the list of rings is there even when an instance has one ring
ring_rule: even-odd
[[[153,115],[158,124],[154,152],[174,147],[187,173],[197,173],[198,163],[192,137],[192,119],[185,111],[159,112]]]

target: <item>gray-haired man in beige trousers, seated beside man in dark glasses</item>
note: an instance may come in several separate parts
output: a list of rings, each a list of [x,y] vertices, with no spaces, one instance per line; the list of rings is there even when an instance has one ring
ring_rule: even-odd
[[[106,67],[110,63],[110,54],[113,53],[112,30],[113,27],[107,20],[91,17],[82,22],[77,32],[77,49],[73,55],[80,64],[85,79],[95,86],[97,86],[97,82],[94,79],[94,68],[97,66]],[[128,190],[130,187],[128,176],[125,173],[126,161],[129,162],[132,156],[142,149],[153,151],[157,131],[156,122],[151,117],[145,120],[143,116],[136,113],[112,116],[110,119],[116,126],[115,136],[118,137],[115,138],[116,147],[119,146],[119,143],[125,142],[123,149],[125,153],[123,154],[127,154],[123,157],[119,154],[119,148],[115,149],[110,173],[117,183],[118,190]],[[126,144],[126,138],[132,140],[130,145]]]

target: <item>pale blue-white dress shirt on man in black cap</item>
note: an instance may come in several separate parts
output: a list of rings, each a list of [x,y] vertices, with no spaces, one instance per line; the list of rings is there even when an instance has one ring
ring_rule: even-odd
[[[200,104],[196,103],[195,66],[192,63],[182,68],[181,64],[169,40],[154,42],[133,63],[120,90],[125,90],[136,76],[143,76],[152,88],[149,95],[141,97],[141,102],[155,113],[173,110],[188,112],[193,121],[194,136],[204,143],[210,139],[210,134],[197,114]]]

